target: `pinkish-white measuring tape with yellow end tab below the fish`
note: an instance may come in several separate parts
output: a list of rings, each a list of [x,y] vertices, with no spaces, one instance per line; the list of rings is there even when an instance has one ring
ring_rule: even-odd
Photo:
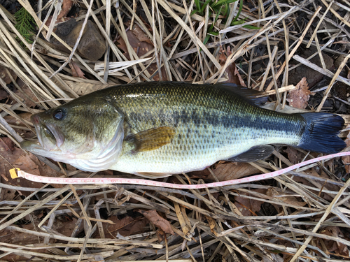
[[[288,173],[291,170],[301,168],[302,166],[307,166],[310,163],[315,163],[318,161],[329,160],[334,157],[343,157],[349,156],[350,152],[340,152],[337,154],[330,154],[323,157],[317,157],[316,159],[310,159],[302,163],[297,163],[288,168],[283,168],[274,172],[262,174],[262,175],[253,175],[251,177],[239,178],[237,180],[227,180],[221,182],[214,182],[209,184],[172,184],[166,182],[158,182],[153,180],[142,180],[138,178],[113,178],[113,177],[102,177],[102,178],[66,178],[66,177],[41,177],[40,175],[32,175],[25,171],[20,170],[20,168],[13,168],[10,170],[11,178],[15,179],[17,177],[24,177],[27,180],[41,183],[49,184],[142,184],[146,186],[153,187],[169,187],[172,189],[203,189],[209,187],[224,187],[231,184],[243,184],[247,182],[265,180],[271,177],[276,177],[284,173]],[[17,173],[16,173],[17,172]]]

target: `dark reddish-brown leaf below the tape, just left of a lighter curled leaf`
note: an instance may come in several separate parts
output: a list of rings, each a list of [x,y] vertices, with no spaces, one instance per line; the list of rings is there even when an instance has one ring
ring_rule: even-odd
[[[104,223],[104,235],[106,238],[116,238],[118,233],[125,237],[143,233],[145,226],[148,224],[147,219],[144,217],[133,219],[127,216],[123,219],[118,219],[117,216],[113,215],[109,217],[109,220],[113,221],[114,224]]]

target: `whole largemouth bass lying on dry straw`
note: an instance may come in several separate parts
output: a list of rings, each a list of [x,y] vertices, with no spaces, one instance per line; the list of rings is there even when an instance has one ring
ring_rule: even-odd
[[[37,140],[23,150],[84,170],[143,177],[203,170],[217,161],[251,162],[273,145],[332,154],[344,125],[326,112],[260,108],[260,92],[234,84],[144,82],[102,89],[31,116]]]

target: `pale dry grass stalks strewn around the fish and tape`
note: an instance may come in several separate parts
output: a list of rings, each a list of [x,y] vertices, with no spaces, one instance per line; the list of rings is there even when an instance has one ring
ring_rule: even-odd
[[[45,17],[36,13],[29,1],[19,1],[34,17],[46,39],[54,37],[66,45],[52,31],[53,25],[47,27],[43,24]],[[334,42],[350,37],[347,31],[350,25],[346,19],[349,18],[349,3],[332,1],[330,5],[329,1],[322,0],[327,8],[320,8],[316,5],[317,1],[311,0],[298,4],[295,2],[299,1],[293,0],[252,2],[256,8],[249,10],[245,5],[239,20],[246,19],[246,24],[260,29],[246,29],[243,24],[230,26],[230,21],[235,17],[232,12],[234,15],[231,14],[225,24],[221,22],[223,17],[219,17],[214,28],[220,34],[211,36],[204,45],[207,29],[213,23],[214,16],[209,16],[209,8],[206,8],[204,16],[190,15],[195,6],[194,1],[187,1],[186,4],[186,1],[171,0],[83,0],[80,5],[85,6],[87,15],[81,15],[77,20],[86,22],[89,18],[97,24],[110,54],[104,56],[103,63],[82,59],[74,52],[76,47],[70,48],[68,45],[66,48],[71,50],[71,54],[58,52],[41,38],[36,38],[35,45],[29,45],[15,29],[13,15],[0,8],[0,65],[12,69],[27,84],[38,99],[37,108],[44,110],[59,105],[61,101],[57,99],[73,99],[116,83],[152,81],[157,72],[151,71],[148,65],[153,62],[158,68],[164,68],[158,71],[160,80],[196,83],[227,80],[228,73],[225,70],[232,62],[236,62],[241,65],[239,73],[248,87],[276,94],[272,108],[284,107],[286,91],[289,90],[286,88],[288,72],[303,64],[332,79],[316,108],[320,111],[335,82],[350,85],[349,79],[339,75],[346,67],[349,54],[333,50]],[[116,3],[119,8],[116,8]],[[237,3],[231,3],[236,13]],[[310,4],[314,4],[313,11],[305,8]],[[55,10],[55,5],[57,2],[52,1],[48,8]],[[339,16],[335,10],[339,6],[346,8],[347,17]],[[113,17],[111,9],[116,17]],[[144,13],[143,18],[140,13]],[[333,20],[328,13],[335,16]],[[307,15],[307,23],[297,23],[297,15],[301,14]],[[140,57],[130,45],[126,34],[129,29],[123,23],[126,20],[138,24],[151,39],[154,49],[148,52],[152,55],[149,61],[146,61],[146,55]],[[290,31],[290,27],[293,27],[293,31]],[[318,31],[329,36],[329,41],[324,45],[319,43]],[[111,32],[113,36],[117,32],[123,38],[132,62],[113,42]],[[16,37],[25,43],[26,49],[15,40]],[[218,61],[222,45],[232,50],[223,65]],[[265,45],[267,49],[267,53],[260,57],[254,51],[258,45]],[[320,57],[323,68],[297,54],[304,45],[316,48],[313,56]],[[344,55],[345,59],[335,73],[325,68],[322,51]],[[290,66],[292,58],[300,63],[293,68]],[[253,65],[262,59],[268,59],[265,68],[254,72]],[[89,74],[90,79],[71,77],[71,70],[66,66],[70,61],[76,62],[83,72]],[[57,71],[52,69],[52,64],[57,66]],[[118,73],[113,71],[120,67],[125,68],[117,70]],[[282,81],[277,82],[280,76]],[[1,79],[0,84],[13,100],[11,105],[0,104],[0,133],[19,145],[22,138],[13,130],[13,127],[18,126],[11,127],[3,117],[12,115],[25,122],[18,116],[19,112],[38,110],[29,108]],[[15,82],[13,85],[16,85]],[[349,117],[346,117],[346,122],[349,122]],[[29,122],[25,124],[27,129],[22,130],[33,130]],[[269,172],[292,164],[290,159],[279,152],[274,152],[270,160],[252,165],[261,172]],[[47,160],[45,163],[50,164]],[[307,169],[303,169],[267,182],[210,190],[180,191],[138,185],[67,185],[63,188],[45,185],[36,189],[16,187],[4,182],[0,184],[1,190],[15,189],[18,194],[26,191],[30,194],[23,196],[24,199],[17,197],[13,201],[0,202],[0,233],[12,232],[22,238],[22,241],[14,244],[6,241],[6,234],[1,235],[0,260],[8,258],[9,254],[16,254],[23,261],[349,261],[346,252],[329,250],[329,243],[334,242],[339,249],[344,250],[350,246],[346,236],[350,228],[350,180],[344,183],[334,175],[335,170],[332,168],[335,163],[317,163],[314,166],[323,170],[326,177],[311,176],[304,171]],[[54,165],[53,168],[61,170],[60,166]],[[87,174],[73,172],[66,175]],[[181,177],[179,181],[183,183],[203,182]],[[299,180],[295,180],[296,177]],[[255,205],[260,206],[261,210],[254,211]],[[109,233],[106,224],[113,222],[102,219],[105,215],[101,210],[109,215],[123,215],[128,210],[130,212],[139,208],[157,210],[170,221],[175,235],[167,235],[167,240],[158,240],[155,232],[157,228],[149,224],[143,233],[106,238]],[[249,215],[245,215],[246,212]],[[55,231],[59,217],[75,219],[75,228],[69,237]],[[28,219],[33,224],[32,228],[22,226],[23,221]],[[25,239],[33,237],[37,240],[36,244],[27,244]],[[334,256],[335,252],[337,256]]]

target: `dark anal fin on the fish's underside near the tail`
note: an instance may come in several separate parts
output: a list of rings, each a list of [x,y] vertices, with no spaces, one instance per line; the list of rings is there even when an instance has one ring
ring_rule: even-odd
[[[259,145],[257,147],[251,147],[250,150],[239,154],[238,156],[230,157],[228,161],[253,162],[269,157],[272,154],[272,151],[274,151],[274,147],[272,145]]]

